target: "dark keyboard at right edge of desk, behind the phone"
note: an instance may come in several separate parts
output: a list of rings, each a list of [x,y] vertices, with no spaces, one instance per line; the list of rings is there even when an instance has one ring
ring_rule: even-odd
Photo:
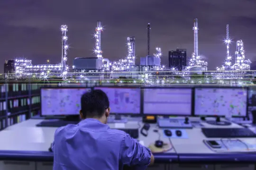
[[[201,128],[202,133],[208,138],[242,138],[256,137],[248,128]]]

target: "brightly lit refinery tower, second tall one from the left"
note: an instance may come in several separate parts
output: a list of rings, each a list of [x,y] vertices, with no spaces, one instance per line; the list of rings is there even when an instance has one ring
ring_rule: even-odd
[[[95,29],[95,56],[98,59],[102,59],[102,51],[101,51],[101,31],[102,31],[102,26],[101,26],[101,21],[97,21],[97,27]]]

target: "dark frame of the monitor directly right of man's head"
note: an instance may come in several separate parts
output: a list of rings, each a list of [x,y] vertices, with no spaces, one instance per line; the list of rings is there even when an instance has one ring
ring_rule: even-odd
[[[92,90],[96,90],[95,88],[128,88],[128,89],[139,89],[140,91],[140,112],[139,113],[113,113],[111,112],[111,107],[110,107],[110,115],[120,115],[120,116],[132,116],[132,117],[141,117],[142,114],[142,93],[141,93],[141,87],[129,87],[129,86],[94,86]]]

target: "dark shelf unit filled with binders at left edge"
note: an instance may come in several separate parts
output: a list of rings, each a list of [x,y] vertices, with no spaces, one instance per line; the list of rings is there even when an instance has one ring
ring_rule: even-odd
[[[42,86],[46,85],[28,83],[0,85],[0,130],[40,114]]]

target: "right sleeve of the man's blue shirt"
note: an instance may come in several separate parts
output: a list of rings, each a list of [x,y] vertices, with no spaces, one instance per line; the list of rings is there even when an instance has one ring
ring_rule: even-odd
[[[150,163],[151,152],[137,140],[125,135],[122,144],[121,161],[128,166],[147,166]]]

